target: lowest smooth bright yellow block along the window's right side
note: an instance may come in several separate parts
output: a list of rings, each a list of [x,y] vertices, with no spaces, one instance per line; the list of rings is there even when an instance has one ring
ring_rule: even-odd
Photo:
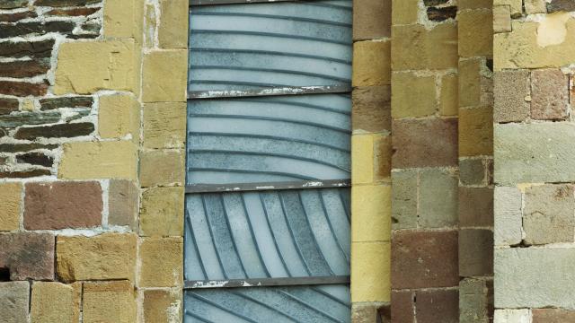
[[[390,301],[391,244],[351,242],[351,301]]]

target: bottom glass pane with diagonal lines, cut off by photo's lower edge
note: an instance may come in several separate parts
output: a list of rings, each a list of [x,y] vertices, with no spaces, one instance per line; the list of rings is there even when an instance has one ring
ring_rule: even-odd
[[[347,323],[349,286],[314,285],[189,290],[185,323]]]

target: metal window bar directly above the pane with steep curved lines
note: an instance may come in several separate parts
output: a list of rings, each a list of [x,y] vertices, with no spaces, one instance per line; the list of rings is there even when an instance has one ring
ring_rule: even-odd
[[[226,185],[194,184],[194,185],[186,185],[186,193],[223,193],[223,192],[266,191],[266,190],[309,189],[309,188],[348,188],[349,186],[351,186],[351,181],[349,179],[237,183],[237,184],[226,184]]]

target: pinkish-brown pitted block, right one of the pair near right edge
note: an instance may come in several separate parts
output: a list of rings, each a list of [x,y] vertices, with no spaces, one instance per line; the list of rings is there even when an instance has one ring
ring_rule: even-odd
[[[569,77],[561,70],[531,72],[531,118],[562,120],[569,109]]]

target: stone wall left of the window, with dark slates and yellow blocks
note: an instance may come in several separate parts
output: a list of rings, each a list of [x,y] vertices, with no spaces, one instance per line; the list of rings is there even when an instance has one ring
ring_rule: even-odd
[[[182,0],[0,0],[0,321],[181,321],[187,31]]]

